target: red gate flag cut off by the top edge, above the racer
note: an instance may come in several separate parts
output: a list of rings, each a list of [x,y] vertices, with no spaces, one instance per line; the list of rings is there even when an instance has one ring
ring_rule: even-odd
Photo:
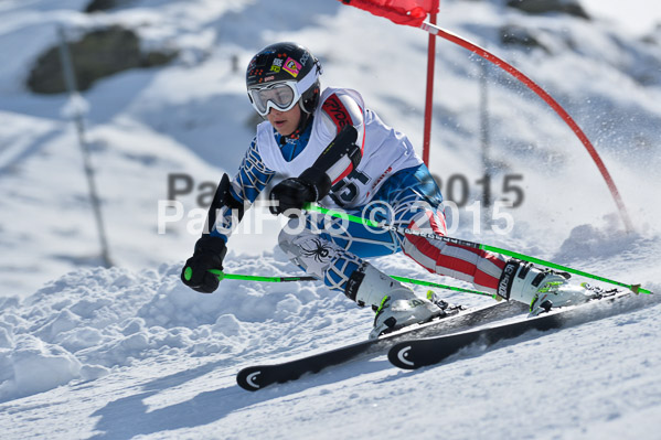
[[[438,0],[339,0],[396,24],[419,28],[428,13],[438,13]]]

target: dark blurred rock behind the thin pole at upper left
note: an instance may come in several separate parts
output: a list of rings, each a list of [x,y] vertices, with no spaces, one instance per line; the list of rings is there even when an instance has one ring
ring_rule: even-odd
[[[142,53],[138,36],[120,26],[92,31],[82,40],[68,43],[68,49],[78,90],[86,90],[97,79],[118,72],[163,65],[177,56],[174,52]],[[26,82],[30,90],[39,94],[66,92],[58,51],[55,45],[39,56]]]

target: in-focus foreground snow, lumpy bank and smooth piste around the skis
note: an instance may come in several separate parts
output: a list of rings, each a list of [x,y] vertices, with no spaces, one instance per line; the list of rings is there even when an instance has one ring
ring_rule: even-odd
[[[417,270],[399,257],[379,264]],[[239,269],[290,264],[279,253],[227,264]],[[377,356],[252,394],[235,383],[241,367],[361,341],[372,312],[303,283],[224,281],[196,297],[179,270],[82,269],[3,303],[3,439],[657,438],[661,303],[651,297],[636,298],[642,310],[437,367],[405,373]]]

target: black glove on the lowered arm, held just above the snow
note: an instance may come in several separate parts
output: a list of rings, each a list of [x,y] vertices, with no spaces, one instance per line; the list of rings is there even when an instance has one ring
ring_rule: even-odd
[[[223,258],[227,254],[225,240],[221,237],[203,235],[195,243],[193,256],[181,269],[181,281],[200,293],[211,293],[218,288],[218,276],[209,269],[223,270]]]

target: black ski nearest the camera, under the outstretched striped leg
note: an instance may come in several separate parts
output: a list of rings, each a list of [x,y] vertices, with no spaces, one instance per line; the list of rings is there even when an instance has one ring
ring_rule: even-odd
[[[553,329],[566,328],[582,322],[594,321],[612,315],[626,310],[608,307],[604,310],[590,310],[589,304],[620,302],[620,300],[633,297],[631,291],[617,289],[600,291],[597,297],[583,304],[566,308],[552,309],[551,311],[514,322],[486,326],[482,329],[468,330],[452,334],[434,335],[431,337],[413,339],[397,342],[388,351],[390,362],[405,369],[416,369],[423,366],[438,364],[462,348],[478,345],[488,348],[499,341],[510,340],[523,335],[526,332],[545,332]],[[623,301],[627,302],[627,301]],[[638,302],[638,301],[636,301]],[[638,305],[642,304],[640,301]],[[629,308],[632,310],[632,308]]]

